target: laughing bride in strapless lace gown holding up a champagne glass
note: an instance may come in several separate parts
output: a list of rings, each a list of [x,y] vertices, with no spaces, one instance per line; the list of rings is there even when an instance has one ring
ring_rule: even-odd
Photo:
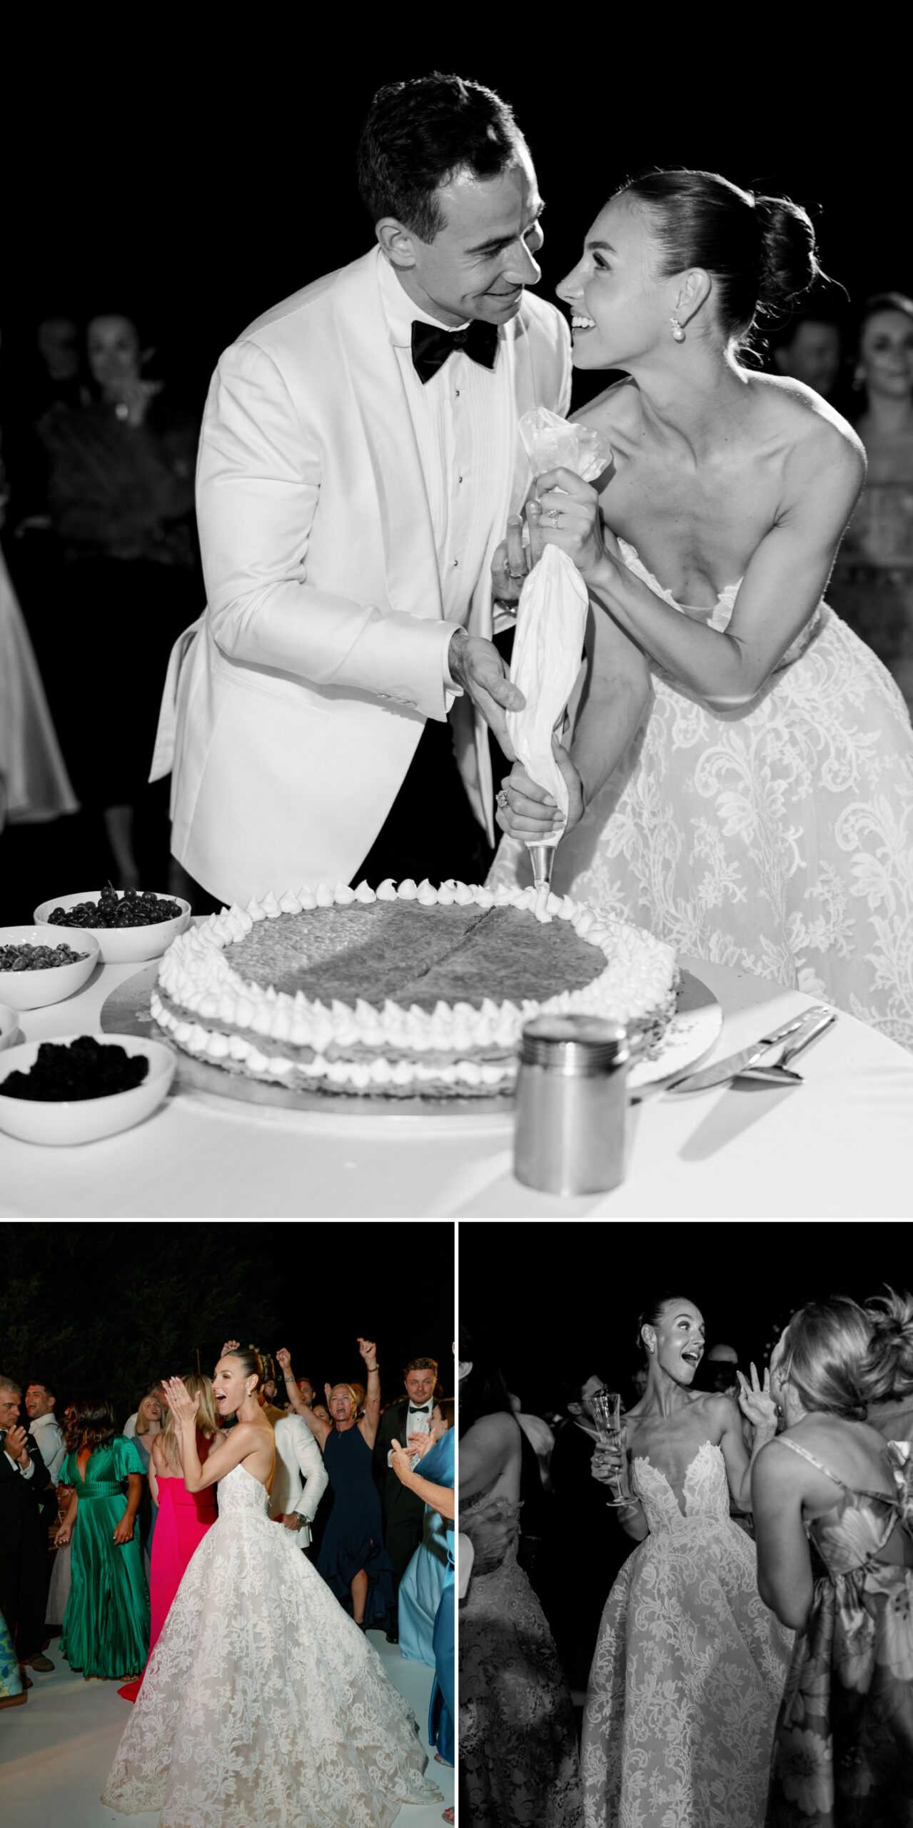
[[[750,1503],[740,1417],[729,1397],[688,1389],[703,1351],[692,1302],[656,1302],[641,1340],[648,1384],[624,1417],[619,1517],[643,1541],[608,1596],[590,1671],[584,1824],[761,1828],[792,1632],[758,1598],[754,1545],[729,1515],[730,1492]],[[758,1453],[776,1411],[756,1378],[741,1402]],[[593,1470],[617,1473],[617,1455],[597,1450]]]

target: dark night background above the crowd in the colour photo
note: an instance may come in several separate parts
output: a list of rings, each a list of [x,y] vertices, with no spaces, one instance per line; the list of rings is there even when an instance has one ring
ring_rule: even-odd
[[[343,1146],[343,1144],[340,1144]],[[287,1345],[298,1376],[365,1382],[358,1334],[376,1342],[382,1402],[402,1367],[429,1356],[453,1395],[453,1227],[7,1225],[0,1283],[0,1371],[47,1378],[57,1413],[102,1391],[122,1428],[153,1382],[199,1366],[212,1376],[226,1338]],[[405,1276],[409,1258],[415,1274]]]

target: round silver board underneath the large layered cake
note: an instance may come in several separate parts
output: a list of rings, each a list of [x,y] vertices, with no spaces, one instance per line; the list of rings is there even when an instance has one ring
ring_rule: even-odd
[[[159,976],[159,960],[142,965],[133,978],[126,978],[102,1004],[102,1029],[106,1035],[141,1035],[142,1040],[168,1042],[168,1035],[157,1027],[150,1013],[150,998]],[[659,1088],[672,1073],[683,1073],[710,1051],[723,1026],[723,1011],[712,991],[694,978],[690,971],[681,972],[676,1004],[676,1016],[663,1036],[659,1049],[635,1060],[630,1069],[630,1091],[635,1099],[654,1086]],[[389,1099],[389,1097],[352,1097],[345,1091],[292,1091],[265,1079],[247,1079],[223,1066],[199,1060],[181,1047],[177,1055],[175,1091],[201,1091],[215,1099],[236,1099],[239,1104],[268,1104],[274,1110],[310,1111],[321,1117],[460,1117],[513,1121],[513,1097],[477,1099]]]

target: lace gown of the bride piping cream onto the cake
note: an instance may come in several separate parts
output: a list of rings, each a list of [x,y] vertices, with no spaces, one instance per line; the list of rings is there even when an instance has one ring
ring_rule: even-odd
[[[727,627],[738,585],[685,609],[621,550],[663,601]],[[635,740],[557,848],[555,890],[913,1047],[913,731],[880,660],[822,603],[747,707],[650,678]],[[489,881],[530,883],[526,845],[506,839]]]

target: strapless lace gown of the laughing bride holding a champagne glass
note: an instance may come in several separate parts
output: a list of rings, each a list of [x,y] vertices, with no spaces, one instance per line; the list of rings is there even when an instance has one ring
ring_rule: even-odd
[[[761,1828],[792,1632],[758,1596],[754,1543],[729,1515],[705,1440],[683,1506],[632,1461],[648,1537],[603,1612],[582,1716],[586,1828]]]

